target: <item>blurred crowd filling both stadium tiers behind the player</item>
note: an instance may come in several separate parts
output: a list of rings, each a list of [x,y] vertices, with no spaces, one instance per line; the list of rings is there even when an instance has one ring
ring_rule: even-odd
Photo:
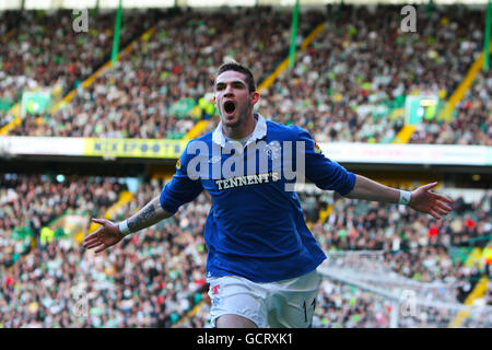
[[[258,110],[305,128],[317,142],[390,143],[403,127],[406,96],[434,92],[445,101],[465,78],[482,50],[482,16],[465,7],[419,11],[419,32],[401,33],[395,7],[303,12],[296,65],[261,90]],[[211,130],[216,68],[236,59],[261,85],[289,54],[291,18],[273,8],[124,11],[120,46],[133,44],[115,67],[97,71],[110,58],[114,12],[91,14],[90,31],[80,35],[71,11],[3,12],[0,128],[15,119],[12,107],[25,91],[51,86],[55,98],[72,97],[27,114],[9,136],[181,139],[200,120],[209,121],[202,132]],[[318,25],[320,34],[302,47]],[[479,72],[453,120],[425,118],[410,143],[492,145],[491,94],[490,71]],[[163,186],[145,177],[117,206],[129,190],[121,178],[0,174],[0,327],[209,327],[207,194],[108,252],[80,244],[89,218],[122,220]],[[454,211],[438,221],[337,195],[300,198],[326,252],[384,252],[401,277],[456,285],[456,303],[491,275],[483,261],[466,264],[490,241],[489,189],[471,201],[455,196]],[[490,291],[482,303],[492,305]],[[388,327],[395,307],[329,279],[316,305],[315,327]],[[446,327],[446,313],[429,308],[399,326]],[[482,315],[464,326],[490,325]]]

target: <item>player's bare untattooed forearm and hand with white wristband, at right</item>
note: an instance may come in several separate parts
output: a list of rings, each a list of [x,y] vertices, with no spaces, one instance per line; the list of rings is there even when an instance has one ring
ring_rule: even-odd
[[[453,200],[431,192],[437,183],[421,186],[410,192],[410,201],[408,206],[417,211],[429,213],[435,219],[441,219],[441,215],[446,215],[453,208],[446,203],[452,203]],[[356,175],[355,185],[344,197],[352,199],[366,199],[374,201],[382,201],[387,203],[405,202],[405,197],[408,192],[378,184],[367,177]],[[403,198],[400,198],[403,197]]]

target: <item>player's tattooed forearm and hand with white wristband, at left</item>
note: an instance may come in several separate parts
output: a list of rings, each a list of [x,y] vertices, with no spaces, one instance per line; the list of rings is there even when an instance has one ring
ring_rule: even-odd
[[[162,209],[160,197],[156,197],[122,222],[114,223],[106,219],[92,219],[93,222],[101,224],[101,226],[84,238],[83,247],[87,249],[97,247],[95,253],[103,252],[120,242],[127,234],[152,226],[172,215]]]

